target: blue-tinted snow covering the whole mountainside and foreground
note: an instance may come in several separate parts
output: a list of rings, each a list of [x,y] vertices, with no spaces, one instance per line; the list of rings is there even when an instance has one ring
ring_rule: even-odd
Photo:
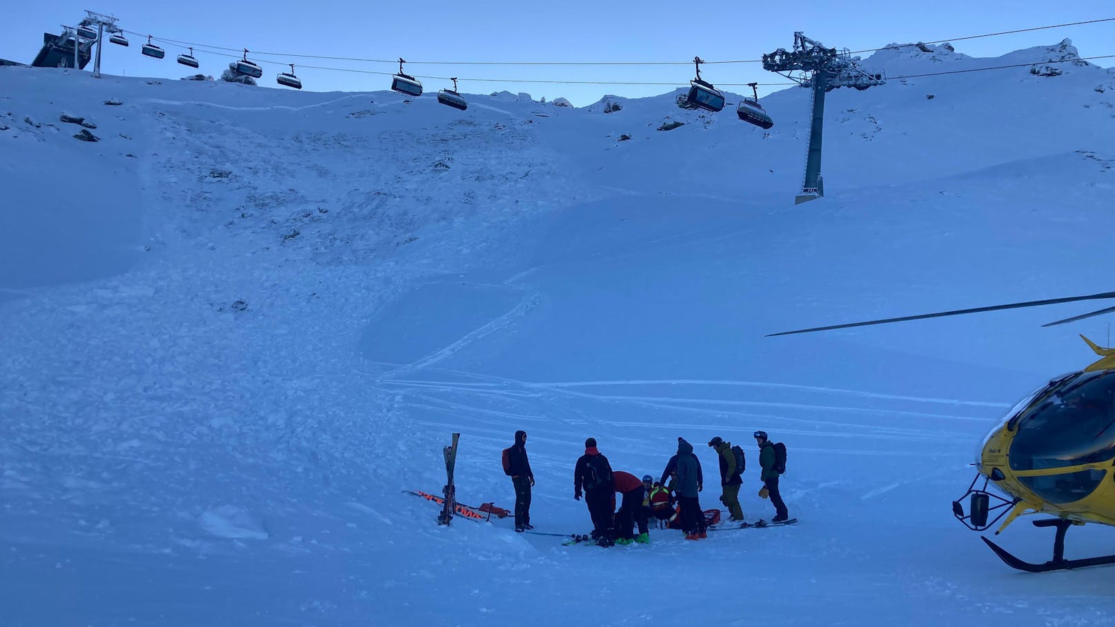
[[[980,437],[1109,318],[1039,325],[1097,305],[763,337],[1112,289],[1115,74],[1057,67],[830,93],[827,196],[799,206],[804,89],[763,99],[763,132],[677,93],[458,112],[0,68],[0,621],[1112,624],[1111,570],[1011,571],[949,509]],[[756,428],[801,522],[564,548],[401,492],[440,490],[460,432],[459,500],[512,508],[518,428],[540,531],[589,529],[588,436],[637,475],[687,437],[717,507],[702,444]],[[769,517],[749,456],[744,510]],[[1000,540],[1044,561],[1050,536]]]

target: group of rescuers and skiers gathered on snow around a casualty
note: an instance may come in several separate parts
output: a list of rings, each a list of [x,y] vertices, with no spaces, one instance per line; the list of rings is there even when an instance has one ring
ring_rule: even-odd
[[[778,490],[778,480],[785,469],[778,466],[775,445],[766,432],[756,431],[754,437],[759,447],[762,466],[759,479],[763,489],[759,495],[770,499],[774,504],[774,522],[788,520],[786,503]],[[708,445],[716,451],[719,461],[720,502],[728,509],[728,520],[744,522],[739,504],[745,471],[743,451],[734,451],[731,443],[719,436],[710,440]],[[534,529],[531,524],[534,473],[526,455],[526,432],[515,432],[515,444],[504,451],[504,471],[511,475],[515,488],[515,531]],[[692,445],[682,437],[678,437],[678,452],[670,457],[657,482],[649,474],[640,480],[629,472],[613,471],[608,457],[597,448],[593,437],[584,441],[584,454],[578,459],[573,471],[573,498],[580,501],[583,496],[592,519],[592,538],[604,547],[649,542],[651,519],[681,529],[687,540],[705,538],[708,523],[699,499],[704,489],[705,474],[700,460]],[[615,510],[617,493],[621,495],[619,510]],[[634,532],[637,527],[638,533]]]

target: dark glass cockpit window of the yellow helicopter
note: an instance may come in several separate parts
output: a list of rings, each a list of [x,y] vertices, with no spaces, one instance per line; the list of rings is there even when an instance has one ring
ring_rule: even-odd
[[[1041,396],[1018,416],[1011,469],[1057,469],[1115,459],[1115,372],[1083,373]]]

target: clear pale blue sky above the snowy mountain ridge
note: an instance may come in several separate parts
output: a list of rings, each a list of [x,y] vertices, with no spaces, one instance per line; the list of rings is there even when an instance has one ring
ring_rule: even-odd
[[[122,0],[103,4],[62,0],[25,3],[8,15],[0,57],[29,62],[43,31],[58,32],[85,9],[115,15],[130,31],[156,37],[256,51],[322,55],[408,61],[417,76],[459,77],[462,93],[488,94],[506,89],[535,98],[563,96],[578,106],[604,94],[650,96],[672,89],[669,85],[556,85],[523,80],[646,81],[685,85],[692,65],[677,66],[471,66],[426,65],[418,61],[688,61],[757,59],[763,52],[789,48],[795,30],[831,47],[852,50],[890,42],[929,41],[1004,30],[1115,17],[1109,0],[1083,0],[1050,6],[1039,2],[939,0],[899,2],[564,2],[525,3],[494,0],[483,3],[432,1],[421,3],[339,2],[139,2]],[[1082,56],[1115,54],[1115,22],[1084,25],[959,41],[957,50],[995,57],[1019,48],[1073,39]],[[154,60],[139,54],[140,37],[129,35],[129,48],[107,46],[103,71],[128,76],[177,78],[191,74],[173,57],[185,49],[163,45],[167,58]],[[220,74],[227,57],[195,51],[201,71]],[[866,55],[865,55],[866,56]],[[329,71],[298,66],[322,66],[381,73],[396,71],[388,64],[256,56],[256,59],[295,64],[306,88],[314,90],[377,90],[389,86],[388,76]],[[1109,59],[1099,65],[1109,67]],[[265,85],[274,85],[282,66],[263,64]],[[289,70],[289,68],[287,68]],[[705,66],[714,84],[783,83],[758,64]],[[478,79],[511,79],[488,81]],[[450,86],[447,80],[423,78],[427,90]],[[779,87],[768,86],[763,93]],[[746,88],[729,88],[741,91]]]

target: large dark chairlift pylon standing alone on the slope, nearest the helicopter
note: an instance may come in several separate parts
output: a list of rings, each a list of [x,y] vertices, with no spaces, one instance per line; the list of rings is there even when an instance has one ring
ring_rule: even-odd
[[[786,78],[802,87],[813,89],[813,118],[809,123],[809,148],[805,160],[805,177],[802,193],[794,197],[794,204],[802,204],[825,195],[824,180],[821,177],[821,138],[824,128],[825,94],[837,87],[855,87],[864,90],[884,85],[886,76],[869,74],[860,67],[860,57],[853,57],[847,48],[825,48],[820,41],[809,39],[802,31],[794,32],[794,49],[778,48],[763,55],[763,69],[773,73],[807,73],[798,79],[789,74]]]

